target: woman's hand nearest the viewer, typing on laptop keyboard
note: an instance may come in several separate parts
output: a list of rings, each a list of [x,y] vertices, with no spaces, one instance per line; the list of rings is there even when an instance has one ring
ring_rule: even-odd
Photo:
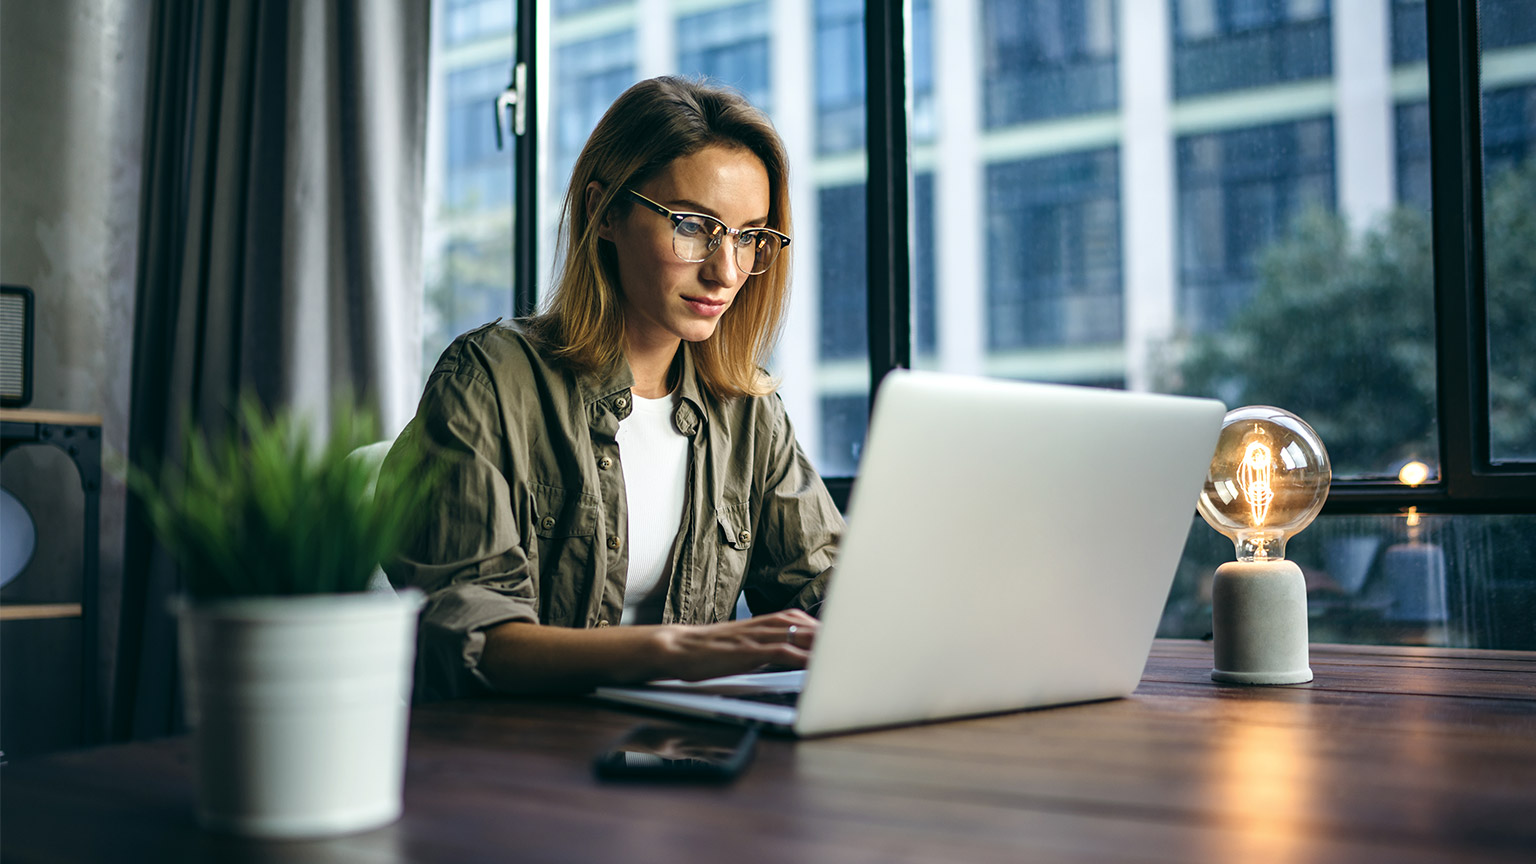
[[[786,609],[723,624],[662,627],[664,667],[673,678],[700,681],[754,672],[765,666],[805,669],[820,623]]]

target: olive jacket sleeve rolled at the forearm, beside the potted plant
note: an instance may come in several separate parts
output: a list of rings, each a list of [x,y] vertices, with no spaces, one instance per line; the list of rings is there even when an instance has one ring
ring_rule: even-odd
[[[416,650],[416,698],[484,693],[479,670],[485,629],[539,620],[538,580],[511,506],[501,464],[501,410],[485,374],[473,364],[439,363],[416,417],[386,458],[384,470],[418,447],[425,512],[401,553],[384,563],[395,587],[425,592]]]

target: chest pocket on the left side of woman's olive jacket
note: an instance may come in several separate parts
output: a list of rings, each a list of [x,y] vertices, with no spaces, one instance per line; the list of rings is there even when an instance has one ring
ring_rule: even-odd
[[[585,595],[596,572],[598,500],[558,486],[533,483],[533,535],[530,558],[539,567],[541,618],[547,624],[573,626],[585,620]]]

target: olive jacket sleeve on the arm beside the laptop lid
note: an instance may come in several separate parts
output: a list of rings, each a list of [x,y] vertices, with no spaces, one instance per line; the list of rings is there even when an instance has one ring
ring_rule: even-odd
[[[771,404],[776,410],[762,474],[757,541],[746,566],[746,606],[754,615],[779,609],[814,615],[837,561],[843,517],[796,441],[783,403],[771,397]]]

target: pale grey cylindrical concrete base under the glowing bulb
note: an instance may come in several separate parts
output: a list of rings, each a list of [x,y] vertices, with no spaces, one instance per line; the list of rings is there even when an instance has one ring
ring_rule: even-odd
[[[1290,561],[1230,561],[1210,587],[1215,669],[1224,684],[1304,684],[1307,583]]]

